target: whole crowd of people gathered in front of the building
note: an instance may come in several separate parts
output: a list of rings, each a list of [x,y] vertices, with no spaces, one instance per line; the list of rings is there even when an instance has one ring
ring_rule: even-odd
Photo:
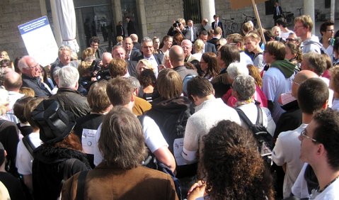
[[[49,66],[2,51],[1,194],[338,199],[338,32],[323,22],[319,40],[306,15],[275,25],[225,35],[217,15],[199,31],[178,18],[111,52],[88,38],[79,60],[62,46]]]

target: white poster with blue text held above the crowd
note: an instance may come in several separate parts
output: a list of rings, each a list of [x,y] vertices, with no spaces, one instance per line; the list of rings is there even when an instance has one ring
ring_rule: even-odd
[[[24,23],[18,28],[28,55],[34,57],[40,65],[50,65],[57,59],[57,42],[46,16]]]

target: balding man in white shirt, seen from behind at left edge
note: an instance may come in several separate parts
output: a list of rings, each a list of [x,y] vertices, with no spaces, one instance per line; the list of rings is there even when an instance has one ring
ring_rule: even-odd
[[[7,72],[4,77],[4,87],[8,91],[8,100],[9,100],[9,111],[6,113],[8,119],[14,123],[19,123],[18,118],[13,113],[13,105],[16,103],[16,100],[21,99],[24,95],[19,93],[21,86],[23,85],[23,80],[21,75],[16,72]]]

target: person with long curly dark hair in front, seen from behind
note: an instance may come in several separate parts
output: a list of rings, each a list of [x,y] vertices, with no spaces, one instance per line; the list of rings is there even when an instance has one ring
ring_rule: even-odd
[[[200,165],[206,182],[194,184],[188,200],[274,199],[272,177],[258,152],[253,133],[231,121],[220,121],[202,138]]]

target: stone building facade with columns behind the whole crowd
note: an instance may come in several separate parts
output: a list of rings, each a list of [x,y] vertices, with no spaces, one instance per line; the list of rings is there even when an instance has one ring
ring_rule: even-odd
[[[52,20],[50,13],[50,0],[2,0],[0,1],[0,50],[6,50],[11,59],[26,55],[25,45],[18,31],[18,26],[31,21],[35,18],[47,15]],[[168,28],[173,24],[176,18],[184,18],[185,9],[184,1],[187,0],[74,0],[77,21],[77,40],[81,45],[81,49],[86,45],[83,43],[84,21],[88,16],[96,16],[97,18],[108,18],[108,22],[112,25],[113,36],[115,33],[115,25],[118,21],[123,21],[127,15],[133,16],[134,23],[137,24],[137,32],[139,38],[143,36],[158,36],[162,38],[166,35]],[[325,8],[325,1],[314,1],[315,8],[322,14],[323,18],[329,18],[330,9]],[[197,1],[199,2],[199,1]],[[214,5],[214,6],[211,6]],[[302,0],[284,0],[280,2],[280,6],[284,11],[292,11],[294,16],[299,16],[300,8],[304,5]],[[339,18],[339,0],[335,0],[335,18]],[[206,7],[208,7],[206,11]],[[266,15],[265,3],[260,3],[258,12],[260,20],[264,28],[270,28],[273,25],[272,14]],[[235,18],[236,23],[241,24],[244,20],[242,13],[248,16],[254,16],[251,6],[243,9],[233,10],[230,7],[229,0],[200,0],[201,17],[212,20],[214,13],[221,18]],[[213,8],[211,8],[213,7]],[[132,9],[131,9],[132,8]],[[214,13],[213,13],[214,11]],[[105,13],[103,15],[103,13]],[[133,19],[132,18],[132,19]],[[212,21],[211,21],[212,22]],[[52,24],[52,21],[50,21]],[[196,26],[200,26],[200,21],[195,21]],[[97,25],[98,26],[98,25]],[[100,33],[100,28],[98,28]],[[39,41],[37,41],[39,43]],[[114,45],[114,40],[112,45]]]

